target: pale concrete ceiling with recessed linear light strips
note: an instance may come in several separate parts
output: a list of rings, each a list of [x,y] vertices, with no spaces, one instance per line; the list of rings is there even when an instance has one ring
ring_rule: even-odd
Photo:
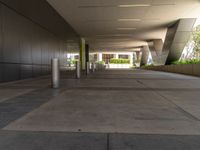
[[[199,0],[47,0],[93,50],[130,50],[165,38],[180,18],[198,18]]]

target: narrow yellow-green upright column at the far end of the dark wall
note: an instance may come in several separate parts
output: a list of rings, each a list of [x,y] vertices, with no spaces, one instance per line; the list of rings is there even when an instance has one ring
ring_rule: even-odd
[[[86,68],[86,47],[85,47],[85,39],[81,38],[80,41],[80,66],[81,70],[85,70]]]

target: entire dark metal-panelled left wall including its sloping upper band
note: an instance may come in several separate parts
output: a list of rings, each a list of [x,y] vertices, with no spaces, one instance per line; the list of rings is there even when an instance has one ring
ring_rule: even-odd
[[[67,40],[75,41],[74,49],[78,49],[76,45],[79,45],[79,37],[74,30],[45,0],[39,0],[42,3],[28,0],[36,4],[39,2],[38,8],[43,6],[45,13],[41,9],[32,9],[34,7],[31,7],[31,3],[19,1],[0,0],[0,82],[49,74],[51,58],[59,57],[61,65],[64,65],[64,54],[69,46]],[[46,11],[49,11],[50,16]],[[34,18],[40,15],[38,12],[41,17]],[[51,21],[56,23],[49,24]]]

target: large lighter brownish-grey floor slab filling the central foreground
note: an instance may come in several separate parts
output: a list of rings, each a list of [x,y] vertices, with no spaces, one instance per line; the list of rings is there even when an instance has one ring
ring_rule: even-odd
[[[67,90],[4,129],[200,134],[197,118],[158,94],[126,90]]]

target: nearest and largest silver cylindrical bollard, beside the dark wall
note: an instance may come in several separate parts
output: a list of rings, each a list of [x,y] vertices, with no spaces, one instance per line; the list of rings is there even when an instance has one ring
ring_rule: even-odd
[[[53,58],[51,60],[51,70],[52,70],[52,88],[59,88],[60,86],[60,68],[58,58]]]

